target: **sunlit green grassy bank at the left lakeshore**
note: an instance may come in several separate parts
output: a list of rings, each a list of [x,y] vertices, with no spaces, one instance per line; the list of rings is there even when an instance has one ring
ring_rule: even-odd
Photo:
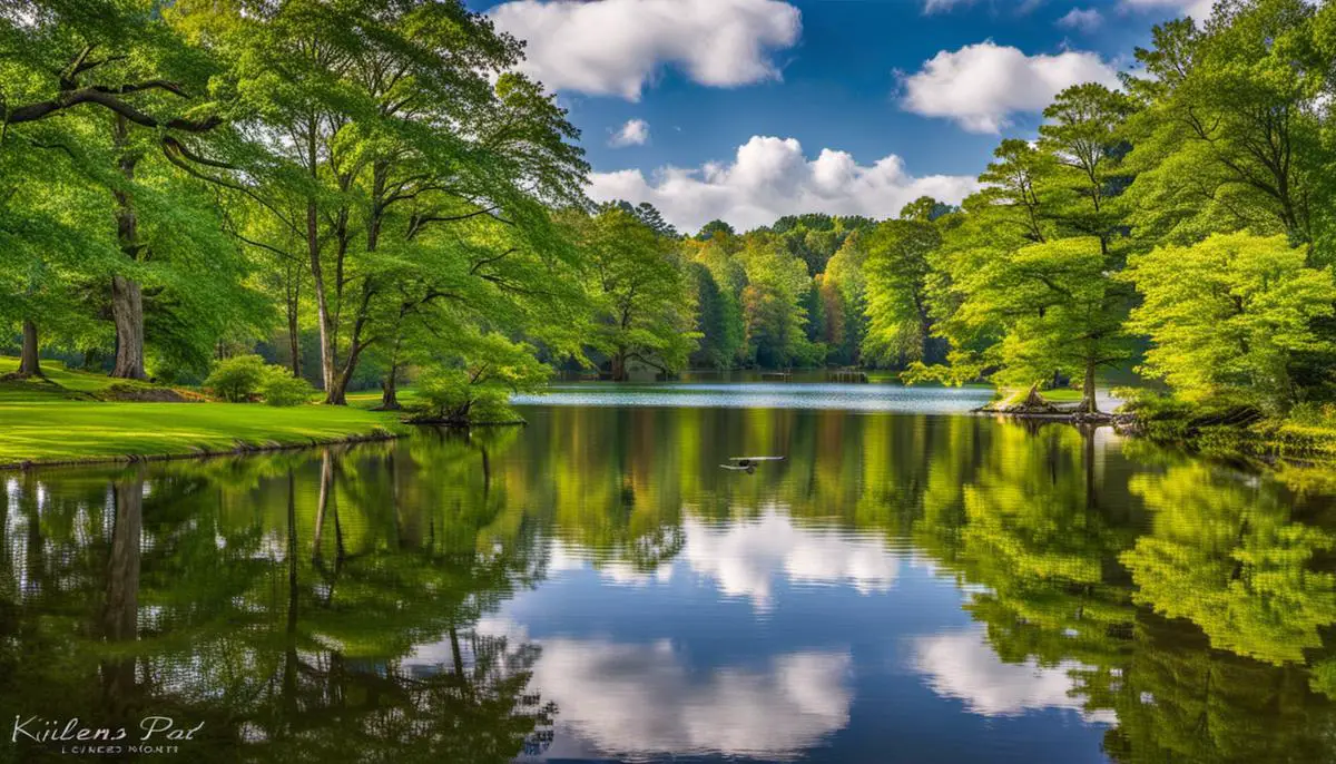
[[[0,377],[16,367],[16,359],[0,358]],[[100,398],[122,381],[52,362],[44,362],[44,371],[47,382],[0,382],[0,466],[228,453],[406,431],[397,415],[355,406],[108,402]]]

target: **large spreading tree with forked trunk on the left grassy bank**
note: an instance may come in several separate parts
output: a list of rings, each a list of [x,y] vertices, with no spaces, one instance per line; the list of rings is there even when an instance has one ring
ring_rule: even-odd
[[[465,299],[446,286],[518,298],[569,282],[552,278],[576,255],[546,206],[580,203],[588,167],[565,112],[512,71],[520,44],[486,17],[454,1],[326,11],[200,3],[187,19],[244,93],[253,156],[228,184],[278,223],[282,244],[253,243],[286,252],[289,236],[301,242],[326,402],[342,405],[363,354],[394,343],[405,301],[417,310]],[[489,230],[461,235],[462,247],[428,235],[460,224]],[[452,252],[450,275],[469,278],[434,283]],[[405,297],[395,284],[415,262],[430,267]]]

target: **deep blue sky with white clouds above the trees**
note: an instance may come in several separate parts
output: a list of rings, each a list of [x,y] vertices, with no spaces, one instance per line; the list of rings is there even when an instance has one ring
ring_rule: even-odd
[[[1210,0],[472,1],[526,40],[596,200],[685,232],[957,203],[1067,85],[1117,84],[1154,24]]]

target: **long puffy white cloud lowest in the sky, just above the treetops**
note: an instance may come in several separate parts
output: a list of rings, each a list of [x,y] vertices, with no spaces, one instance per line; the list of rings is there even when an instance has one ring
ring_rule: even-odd
[[[728,164],[665,167],[649,179],[640,170],[595,172],[589,195],[649,202],[679,230],[695,231],[715,218],[739,230],[802,212],[891,218],[925,194],[954,204],[977,186],[971,176],[915,178],[895,155],[862,166],[844,151],[823,148],[808,160],[792,138],[756,135]]]

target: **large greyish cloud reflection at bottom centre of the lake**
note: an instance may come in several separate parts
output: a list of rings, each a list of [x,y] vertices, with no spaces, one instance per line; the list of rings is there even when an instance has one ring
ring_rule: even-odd
[[[480,629],[522,633],[500,620]],[[848,724],[847,652],[803,650],[699,672],[668,640],[533,641],[542,654],[532,687],[557,703],[558,729],[609,753],[787,757]]]

